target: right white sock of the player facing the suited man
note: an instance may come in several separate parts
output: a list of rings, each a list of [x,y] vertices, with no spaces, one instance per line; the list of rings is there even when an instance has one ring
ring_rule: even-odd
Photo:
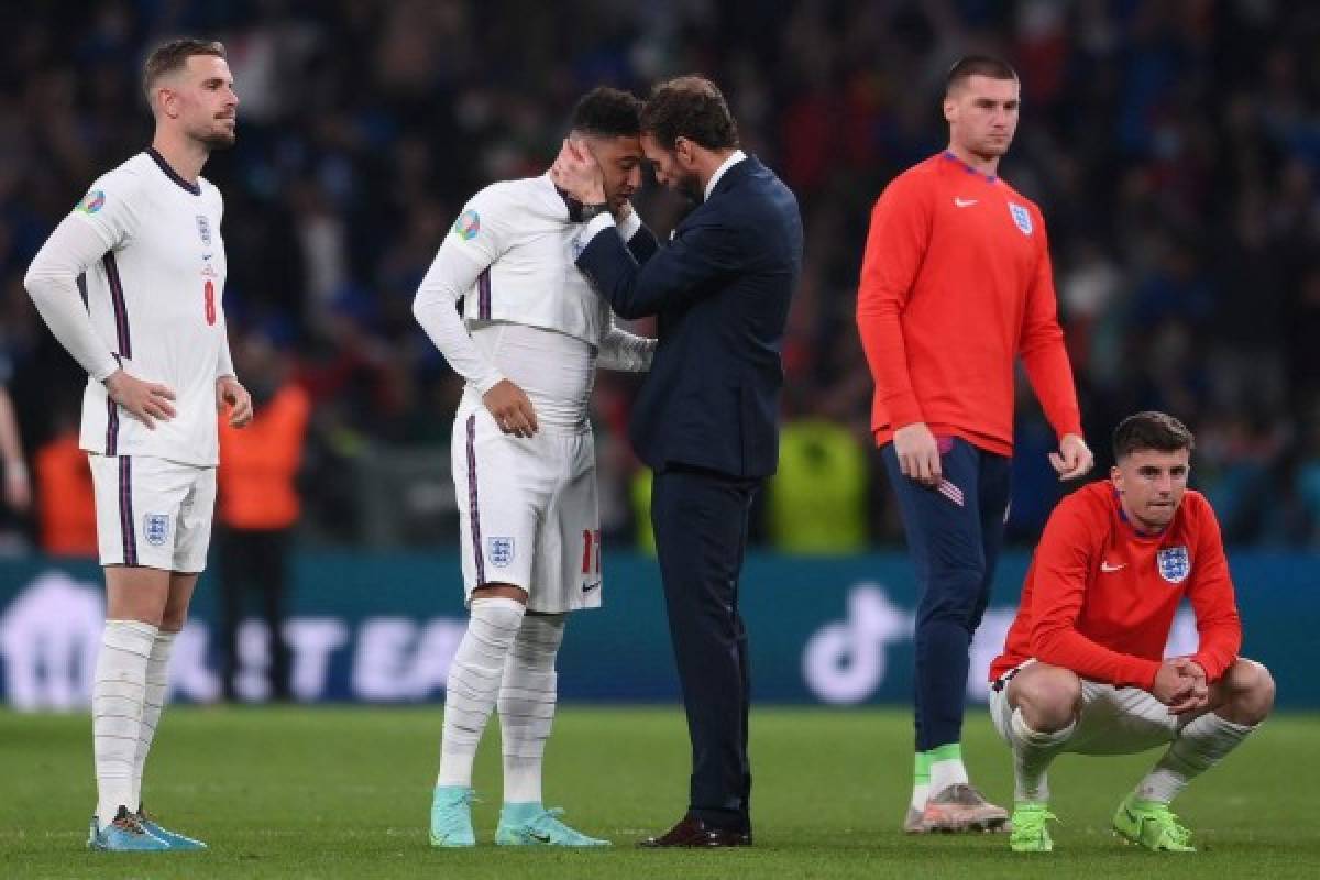
[[[541,802],[541,760],[554,723],[554,656],[566,615],[528,615],[504,664],[499,730],[504,755],[504,802]]]

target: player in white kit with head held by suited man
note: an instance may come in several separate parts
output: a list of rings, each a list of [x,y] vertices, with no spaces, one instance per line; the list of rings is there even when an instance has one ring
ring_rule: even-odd
[[[640,256],[655,249],[628,198],[642,181],[640,103],[595,88],[572,137],[605,169],[607,208]],[[582,206],[548,174],[486,187],[465,206],[413,313],[463,376],[454,487],[470,620],[449,672],[430,842],[474,846],[473,759],[499,711],[504,803],[495,842],[602,846],[541,805],[554,656],[569,611],[601,606],[601,532],[587,401],[595,367],[643,371],[653,339],[614,327],[573,264]],[[455,302],[462,298],[462,317]]]

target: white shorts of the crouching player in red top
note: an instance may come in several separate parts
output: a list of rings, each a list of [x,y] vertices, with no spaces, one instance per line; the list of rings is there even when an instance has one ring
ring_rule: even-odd
[[[1032,662],[1028,660],[1022,666]],[[1001,676],[999,681],[1006,682],[1015,672]],[[990,685],[990,720],[1011,745],[1012,706],[1007,686],[995,690]],[[1082,678],[1081,718],[1063,751],[1076,755],[1135,755],[1173,741],[1184,723],[1185,719],[1170,715],[1168,706],[1140,687],[1115,687]]]

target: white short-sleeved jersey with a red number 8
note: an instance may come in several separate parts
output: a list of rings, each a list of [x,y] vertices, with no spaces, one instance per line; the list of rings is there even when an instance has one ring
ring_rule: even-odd
[[[185,464],[219,462],[215,379],[231,373],[219,190],[194,186],[148,150],[100,177],[75,208],[106,245],[79,289],[123,369],[174,391],[177,414],[154,430],[128,416],[95,376],[83,393],[82,447]]]

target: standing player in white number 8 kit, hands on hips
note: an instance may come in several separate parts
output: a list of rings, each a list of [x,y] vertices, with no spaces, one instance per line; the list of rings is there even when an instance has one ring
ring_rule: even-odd
[[[147,59],[150,148],[102,175],[51,232],[25,285],[87,371],[91,462],[106,570],[106,631],[92,689],[98,850],[197,850],[141,802],[168,666],[215,507],[216,410],[246,425],[220,294],[223,202],[199,177],[235,137],[238,96],[218,42],[177,40]]]

